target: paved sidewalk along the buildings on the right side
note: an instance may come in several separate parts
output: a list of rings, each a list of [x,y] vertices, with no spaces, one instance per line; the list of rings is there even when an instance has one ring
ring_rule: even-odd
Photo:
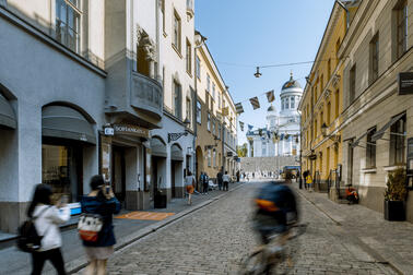
[[[388,262],[401,274],[413,274],[413,224],[385,220],[382,213],[362,205],[334,203],[326,193],[296,190],[374,260]]]

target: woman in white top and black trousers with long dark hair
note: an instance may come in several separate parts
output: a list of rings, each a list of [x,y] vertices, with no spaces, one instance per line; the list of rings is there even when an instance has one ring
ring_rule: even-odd
[[[43,236],[40,249],[32,253],[32,275],[42,274],[46,260],[50,260],[59,275],[66,274],[59,224],[69,220],[70,210],[61,202],[51,205],[51,194],[49,186],[37,184],[27,211],[28,217],[36,217],[37,234]]]

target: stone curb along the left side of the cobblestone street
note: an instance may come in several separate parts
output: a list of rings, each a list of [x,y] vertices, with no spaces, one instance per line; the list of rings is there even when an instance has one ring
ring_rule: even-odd
[[[118,238],[117,244],[115,244],[115,253],[120,252],[121,250],[126,249],[128,246],[133,244],[134,242],[139,241],[140,239],[156,232],[157,230],[160,230],[160,229],[162,229],[162,228],[164,228],[164,227],[188,216],[189,214],[192,214],[192,213],[194,213],[194,212],[197,212],[197,211],[221,200],[223,196],[226,196],[229,193],[240,189],[241,187],[244,187],[244,184],[246,184],[246,183],[243,182],[239,186],[231,189],[229,191],[227,191],[223,194],[216,195],[216,196],[214,196],[210,200],[201,202],[200,204],[193,205],[188,210],[179,212],[178,214],[176,214],[174,216],[169,216],[169,217],[165,218],[164,220],[161,220],[161,222],[155,223],[153,225],[150,225],[145,228],[142,228],[142,229],[138,230],[135,234],[132,234],[132,235],[129,235],[129,236],[126,236],[126,237],[122,237],[122,238]],[[87,265],[87,261],[85,259],[78,259],[78,260],[71,261],[71,262],[66,264],[67,273],[68,274],[74,274],[74,273],[81,271],[82,268],[86,267],[86,265]],[[47,272],[46,274],[55,274],[55,271],[51,270],[50,272]]]

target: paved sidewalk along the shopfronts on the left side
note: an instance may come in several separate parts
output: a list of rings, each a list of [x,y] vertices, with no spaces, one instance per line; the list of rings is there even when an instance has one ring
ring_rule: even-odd
[[[229,192],[239,188],[245,182],[231,183]],[[208,195],[193,195],[192,205],[187,205],[187,199],[174,199],[167,204],[167,208],[162,210],[149,210],[144,212],[155,213],[174,213],[174,215],[158,222],[158,220],[142,220],[142,219],[127,219],[115,218],[115,235],[117,238],[117,244],[115,250],[121,249],[135,240],[148,236],[157,229],[177,220],[212,202],[225,196],[228,192],[224,191],[211,191]],[[125,215],[127,212],[122,212],[120,215]],[[75,272],[85,266],[86,258],[82,243],[78,237],[75,229],[69,229],[62,231],[62,253],[66,262],[67,272]],[[0,250],[0,274],[30,274],[31,273],[31,255],[19,251],[15,247],[10,247]],[[55,274],[55,270],[50,263],[47,263],[44,268],[44,274]]]

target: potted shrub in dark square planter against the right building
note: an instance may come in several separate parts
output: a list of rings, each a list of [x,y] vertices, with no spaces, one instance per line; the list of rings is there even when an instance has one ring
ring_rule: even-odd
[[[385,219],[405,220],[406,196],[405,170],[403,167],[399,167],[388,176],[385,192]]]

